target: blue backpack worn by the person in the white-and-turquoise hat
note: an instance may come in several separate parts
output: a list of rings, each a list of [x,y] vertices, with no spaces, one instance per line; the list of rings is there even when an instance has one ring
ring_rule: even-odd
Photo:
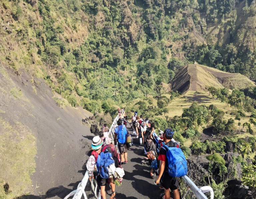
[[[101,178],[109,178],[108,175],[108,166],[113,164],[115,161],[112,159],[112,155],[109,152],[101,152],[98,155],[97,161],[96,161],[96,167],[98,170],[98,174]]]

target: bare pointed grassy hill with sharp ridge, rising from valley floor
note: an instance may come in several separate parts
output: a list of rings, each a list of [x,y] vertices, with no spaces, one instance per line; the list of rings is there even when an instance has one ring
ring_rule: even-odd
[[[174,76],[171,85],[172,90],[186,93],[189,90],[206,90],[207,86],[244,89],[255,86],[255,83],[240,73],[227,73],[199,64],[189,64]]]

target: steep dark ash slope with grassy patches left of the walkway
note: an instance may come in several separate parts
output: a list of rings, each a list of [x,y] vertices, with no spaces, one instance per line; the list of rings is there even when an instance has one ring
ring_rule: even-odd
[[[92,114],[56,105],[42,79],[0,71],[0,159],[6,160],[0,161],[1,183],[14,195],[64,196],[83,177],[78,171],[89,150],[83,136],[91,133],[82,119]]]

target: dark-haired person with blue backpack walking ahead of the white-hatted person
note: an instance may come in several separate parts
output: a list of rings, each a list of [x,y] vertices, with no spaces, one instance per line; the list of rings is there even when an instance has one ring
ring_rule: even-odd
[[[117,127],[115,128],[115,142],[118,143],[118,149],[121,154],[121,164],[128,162],[127,159],[127,146],[126,146],[126,135],[127,129],[122,124],[122,120],[117,121]]]

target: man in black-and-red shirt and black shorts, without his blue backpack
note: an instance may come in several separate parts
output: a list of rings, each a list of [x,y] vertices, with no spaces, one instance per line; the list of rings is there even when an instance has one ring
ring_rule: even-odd
[[[164,130],[163,140],[167,147],[175,147],[175,144],[171,141],[173,134],[174,133],[171,128]],[[158,160],[160,160],[159,176],[155,183],[159,184],[161,180],[161,186],[164,187],[165,199],[171,198],[170,189],[173,191],[174,199],[180,199],[180,192],[178,190],[179,177],[170,177],[167,172],[168,164],[166,164],[166,150],[167,149],[165,147],[161,147],[160,149],[160,154],[158,156]]]

